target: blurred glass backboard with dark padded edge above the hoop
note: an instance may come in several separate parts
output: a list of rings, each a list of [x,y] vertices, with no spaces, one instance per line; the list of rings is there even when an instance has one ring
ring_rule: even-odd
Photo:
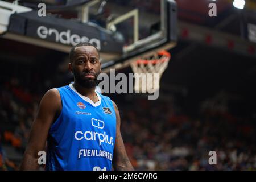
[[[111,12],[106,28],[121,32],[125,39],[123,54],[102,60],[102,70],[128,67],[133,60],[168,50],[177,41],[177,6],[173,0],[108,1]],[[112,19],[111,19],[112,18]]]

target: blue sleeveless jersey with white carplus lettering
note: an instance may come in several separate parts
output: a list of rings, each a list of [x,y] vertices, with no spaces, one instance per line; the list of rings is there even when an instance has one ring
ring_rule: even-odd
[[[116,118],[109,97],[93,103],[69,84],[57,88],[62,110],[47,138],[47,170],[112,169]]]

